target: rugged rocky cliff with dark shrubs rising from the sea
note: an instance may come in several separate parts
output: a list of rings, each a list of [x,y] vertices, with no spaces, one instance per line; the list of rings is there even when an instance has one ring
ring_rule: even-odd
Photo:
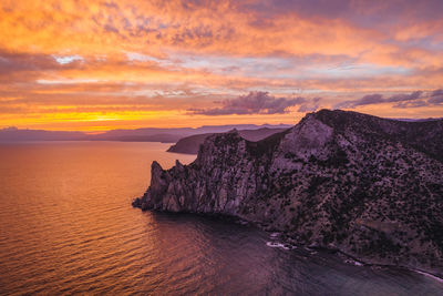
[[[189,165],[154,162],[134,206],[234,215],[301,244],[440,274],[442,141],[443,121],[322,110],[259,142],[209,136]]]

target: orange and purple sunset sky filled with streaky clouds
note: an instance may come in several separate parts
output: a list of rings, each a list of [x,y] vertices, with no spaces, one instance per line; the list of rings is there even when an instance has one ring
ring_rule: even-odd
[[[443,116],[441,0],[1,0],[0,129]]]

